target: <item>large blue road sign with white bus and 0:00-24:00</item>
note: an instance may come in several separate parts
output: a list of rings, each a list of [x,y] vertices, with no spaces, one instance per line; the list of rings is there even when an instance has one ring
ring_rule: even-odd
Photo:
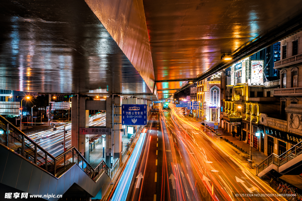
[[[123,104],[122,125],[147,125],[147,105]]]

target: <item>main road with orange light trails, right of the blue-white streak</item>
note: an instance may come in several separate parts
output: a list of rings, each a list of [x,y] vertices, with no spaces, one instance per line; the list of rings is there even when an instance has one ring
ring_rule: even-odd
[[[219,137],[170,107],[149,119],[127,200],[285,200]]]

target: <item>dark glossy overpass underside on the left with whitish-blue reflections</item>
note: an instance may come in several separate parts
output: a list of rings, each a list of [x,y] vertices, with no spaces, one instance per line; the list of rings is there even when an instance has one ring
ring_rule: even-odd
[[[152,93],[85,1],[1,1],[0,9],[0,89]]]

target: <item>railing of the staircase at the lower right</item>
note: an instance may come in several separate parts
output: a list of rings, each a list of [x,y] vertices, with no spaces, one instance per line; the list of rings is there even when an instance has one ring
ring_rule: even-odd
[[[291,159],[296,158],[301,153],[302,153],[302,141],[297,143],[291,149],[288,149],[286,152],[284,152],[280,156],[278,156],[274,153],[269,155],[264,161],[262,161],[256,167],[256,174],[259,174],[261,171],[263,171],[265,168],[267,168],[271,164],[274,164],[274,165],[280,167],[281,165],[284,165],[285,163],[287,163]]]

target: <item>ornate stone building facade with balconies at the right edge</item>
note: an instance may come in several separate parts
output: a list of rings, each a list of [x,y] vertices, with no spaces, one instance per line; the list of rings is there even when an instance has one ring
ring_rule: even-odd
[[[274,63],[280,80],[270,96],[279,99],[279,115],[261,114],[265,154],[281,155],[302,141],[302,32],[281,40],[281,60]]]

